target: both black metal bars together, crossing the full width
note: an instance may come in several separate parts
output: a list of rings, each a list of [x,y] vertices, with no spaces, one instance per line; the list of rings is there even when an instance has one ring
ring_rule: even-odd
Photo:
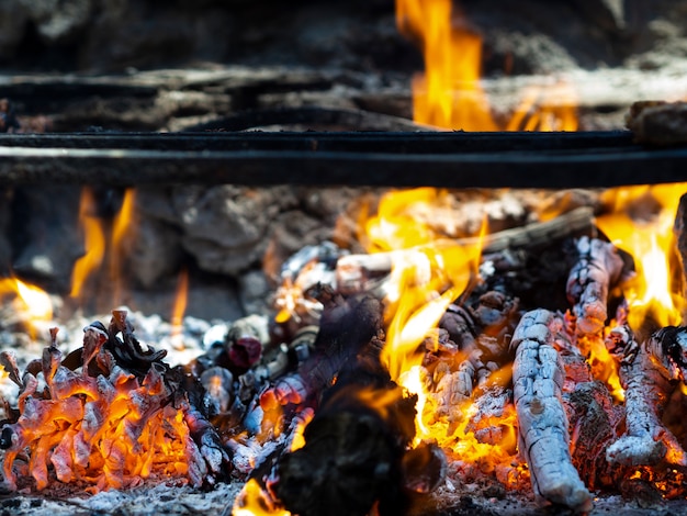
[[[0,184],[586,188],[687,181],[627,132],[0,135]]]

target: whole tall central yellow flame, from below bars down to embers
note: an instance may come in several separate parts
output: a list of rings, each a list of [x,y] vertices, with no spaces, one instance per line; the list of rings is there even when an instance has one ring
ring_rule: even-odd
[[[391,192],[382,198],[378,214],[363,221],[364,238],[370,251],[393,253],[393,269],[386,289],[386,345],[382,361],[398,384],[416,394],[416,438],[436,441],[461,461],[478,463],[483,469],[497,465],[511,467],[516,448],[516,413],[510,404],[503,416],[489,420],[495,431],[502,434],[498,442],[480,442],[469,428],[476,412],[472,400],[451,407],[448,417],[437,417],[437,399],[429,392],[431,379],[420,362],[424,352],[418,348],[436,328],[439,318],[465,290],[476,274],[481,248],[486,233],[483,224],[478,238],[470,246],[449,242],[433,229],[429,216],[437,203],[442,203],[447,192],[421,188]],[[394,250],[392,250],[394,249]],[[461,355],[461,354],[459,354]],[[455,358],[455,363],[465,359]],[[509,373],[494,373],[494,381],[505,382]],[[515,482],[511,472],[502,475]],[[508,480],[510,479],[510,480]]]

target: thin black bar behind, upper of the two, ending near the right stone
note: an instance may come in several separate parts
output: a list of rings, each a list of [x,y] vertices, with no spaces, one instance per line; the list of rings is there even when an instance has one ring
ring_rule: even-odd
[[[633,145],[632,134],[628,131],[584,133],[203,132],[0,134],[0,147],[450,154],[504,150],[592,150],[629,148]]]

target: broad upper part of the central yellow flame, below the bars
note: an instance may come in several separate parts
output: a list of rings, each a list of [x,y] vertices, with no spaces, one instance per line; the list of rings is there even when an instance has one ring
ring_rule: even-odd
[[[382,351],[382,362],[395,380],[420,362],[421,355],[414,351],[476,272],[485,225],[481,238],[463,247],[442,239],[415,216],[447,197],[432,188],[391,192],[381,199],[378,214],[363,224],[370,253],[395,249]]]

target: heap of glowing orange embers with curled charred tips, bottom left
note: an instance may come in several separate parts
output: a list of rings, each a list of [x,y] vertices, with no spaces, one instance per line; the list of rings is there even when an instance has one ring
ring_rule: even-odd
[[[0,439],[10,490],[30,478],[37,490],[58,480],[101,491],[168,476],[200,486],[224,474],[228,456],[190,403],[183,374],[161,361],[164,351],[140,347],[124,311],[109,329],[86,327],[83,347],[65,359],[56,333],[21,380],[3,360],[20,386],[19,416]]]

